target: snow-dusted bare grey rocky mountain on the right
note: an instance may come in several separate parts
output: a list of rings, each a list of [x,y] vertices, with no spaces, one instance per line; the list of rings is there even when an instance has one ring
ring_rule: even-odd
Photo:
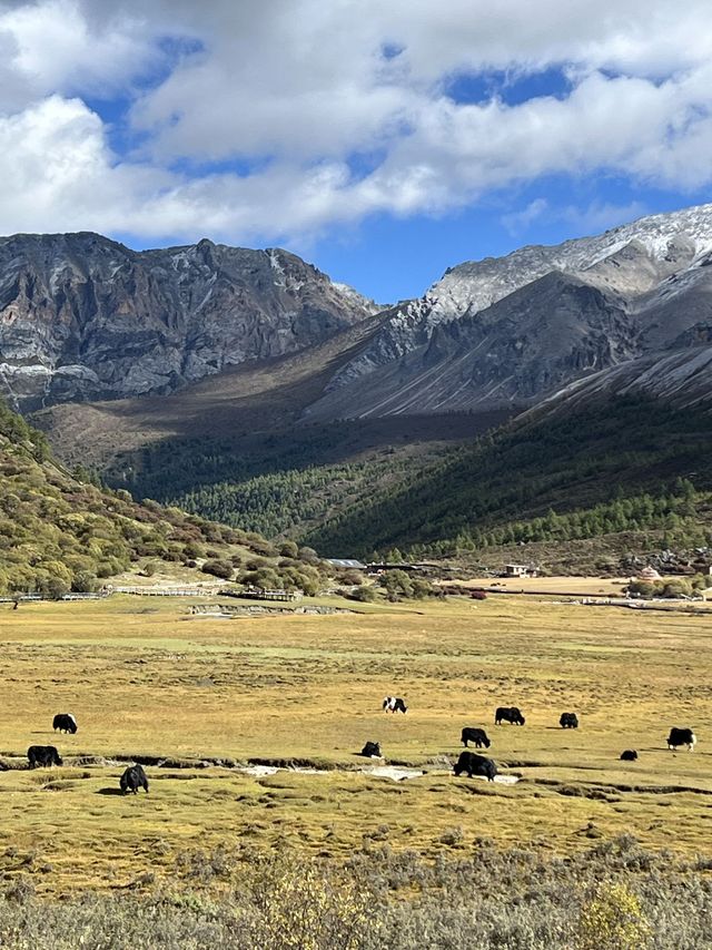
[[[449,270],[389,312],[309,418],[526,405],[712,317],[712,205]],[[700,341],[703,342],[703,341]]]

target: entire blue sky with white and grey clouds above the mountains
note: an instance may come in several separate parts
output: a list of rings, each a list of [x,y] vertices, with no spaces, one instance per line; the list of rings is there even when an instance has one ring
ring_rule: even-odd
[[[379,301],[711,199],[709,0],[0,0],[0,233],[284,246]]]

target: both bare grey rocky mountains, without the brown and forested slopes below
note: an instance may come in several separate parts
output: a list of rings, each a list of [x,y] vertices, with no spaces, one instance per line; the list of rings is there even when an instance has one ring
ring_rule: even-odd
[[[705,205],[461,264],[372,320],[376,304],[285,251],[17,235],[0,241],[0,381],[24,411],[167,393],[359,325],[305,418],[516,409],[708,344],[710,264]]]

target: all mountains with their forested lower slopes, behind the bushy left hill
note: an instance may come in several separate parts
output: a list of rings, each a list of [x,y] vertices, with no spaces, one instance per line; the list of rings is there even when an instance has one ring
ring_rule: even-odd
[[[66,464],[325,555],[704,545],[710,265],[712,205],[390,307],[285,251],[18,235],[0,380]]]

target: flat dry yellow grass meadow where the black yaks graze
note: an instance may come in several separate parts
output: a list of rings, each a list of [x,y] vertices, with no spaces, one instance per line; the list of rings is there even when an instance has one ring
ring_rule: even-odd
[[[429,855],[452,849],[454,827],[463,849],[485,836],[568,852],[624,831],[689,853],[712,843],[710,618],[497,597],[220,620],[190,617],[185,601],[115,597],[0,608],[0,754],[55,744],[67,763],[0,773],[0,871],[34,871],[46,890],[160,876],[180,852],[218,843],[287,839],[342,856],[366,840]],[[380,711],[393,692],[406,716]],[[502,704],[520,705],[526,725],[492,725]],[[53,734],[68,711],[78,734]],[[578,731],[558,728],[564,711]],[[487,728],[518,785],[451,774],[465,725]],[[666,750],[671,725],[695,728],[695,753]],[[354,753],[366,740],[427,774],[345,771],[364,765]],[[619,761],[625,747],[637,763]],[[76,764],[82,755],[339,768],[148,767],[150,794],[123,799],[122,766]]]

